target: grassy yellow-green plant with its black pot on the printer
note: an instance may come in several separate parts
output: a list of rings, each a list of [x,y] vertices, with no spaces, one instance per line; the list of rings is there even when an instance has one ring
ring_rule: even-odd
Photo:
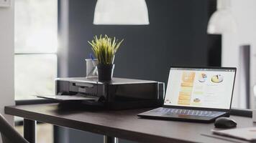
[[[114,71],[114,56],[122,41],[118,41],[115,37],[111,39],[107,35],[99,36],[99,38],[94,36],[92,41],[88,41],[99,62],[97,65],[99,81],[111,81]]]

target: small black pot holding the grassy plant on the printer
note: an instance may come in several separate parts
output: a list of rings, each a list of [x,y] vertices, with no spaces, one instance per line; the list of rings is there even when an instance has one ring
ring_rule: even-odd
[[[97,69],[100,82],[111,81],[114,72],[114,64],[98,64]]]

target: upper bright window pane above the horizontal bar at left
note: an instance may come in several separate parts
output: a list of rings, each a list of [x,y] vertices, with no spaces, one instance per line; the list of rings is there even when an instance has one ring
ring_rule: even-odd
[[[58,0],[15,1],[15,53],[55,53]]]

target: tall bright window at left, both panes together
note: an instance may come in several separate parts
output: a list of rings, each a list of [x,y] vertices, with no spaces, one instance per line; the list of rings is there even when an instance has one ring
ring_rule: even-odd
[[[15,99],[55,94],[58,0],[15,1]]]

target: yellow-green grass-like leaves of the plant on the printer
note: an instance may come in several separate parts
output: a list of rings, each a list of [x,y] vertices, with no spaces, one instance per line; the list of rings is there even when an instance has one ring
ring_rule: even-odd
[[[124,41],[124,39],[122,39]],[[91,49],[99,61],[99,64],[113,64],[114,56],[122,41],[118,41],[115,37],[111,39],[109,36],[94,36],[92,41],[88,41]]]

